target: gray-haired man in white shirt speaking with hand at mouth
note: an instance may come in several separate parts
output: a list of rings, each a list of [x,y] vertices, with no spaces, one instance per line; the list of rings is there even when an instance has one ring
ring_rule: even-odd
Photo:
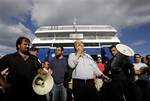
[[[75,53],[68,58],[72,73],[74,101],[96,101],[95,76],[105,75],[98,69],[92,57],[84,52],[84,43],[81,40],[74,42]]]

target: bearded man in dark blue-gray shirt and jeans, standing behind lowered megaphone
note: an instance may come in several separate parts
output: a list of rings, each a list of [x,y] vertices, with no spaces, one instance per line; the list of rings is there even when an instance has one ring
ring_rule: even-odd
[[[67,92],[64,87],[64,75],[68,69],[67,58],[63,56],[64,49],[56,47],[55,57],[50,61],[49,67],[52,70],[54,87],[52,89],[52,101],[66,101]]]

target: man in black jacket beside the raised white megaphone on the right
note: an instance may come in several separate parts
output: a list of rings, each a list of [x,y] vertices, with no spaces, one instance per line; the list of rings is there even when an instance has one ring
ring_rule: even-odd
[[[134,68],[130,59],[118,52],[115,45],[110,47],[112,59],[104,71],[112,81],[107,85],[105,101],[136,101]]]

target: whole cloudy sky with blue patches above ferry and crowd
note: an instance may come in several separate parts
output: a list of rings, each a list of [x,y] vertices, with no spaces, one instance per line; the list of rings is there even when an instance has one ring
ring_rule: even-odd
[[[0,0],[0,55],[15,51],[19,36],[34,38],[45,25],[111,25],[122,43],[150,54],[150,0]]]

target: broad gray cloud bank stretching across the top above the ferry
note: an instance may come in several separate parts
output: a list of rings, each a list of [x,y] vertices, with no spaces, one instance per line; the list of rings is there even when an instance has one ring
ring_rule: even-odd
[[[134,25],[150,21],[149,0],[34,0],[32,19],[37,25]],[[40,15],[40,16],[39,16]],[[141,18],[143,19],[141,21]]]

